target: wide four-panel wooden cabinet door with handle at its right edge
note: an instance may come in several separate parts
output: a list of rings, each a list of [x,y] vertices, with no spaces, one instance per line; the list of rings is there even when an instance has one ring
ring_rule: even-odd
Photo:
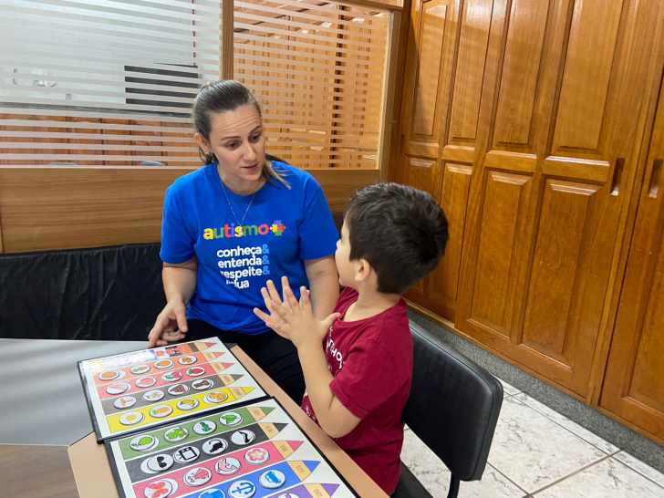
[[[455,326],[579,396],[634,172],[644,4],[493,6]]]

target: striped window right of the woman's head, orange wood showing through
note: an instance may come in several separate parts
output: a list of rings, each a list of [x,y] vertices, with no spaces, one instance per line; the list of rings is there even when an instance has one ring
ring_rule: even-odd
[[[234,78],[264,106],[268,151],[299,168],[377,168],[389,13],[234,2]]]

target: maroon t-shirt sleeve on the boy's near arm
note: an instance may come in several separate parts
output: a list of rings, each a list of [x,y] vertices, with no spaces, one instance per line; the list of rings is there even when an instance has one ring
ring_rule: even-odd
[[[403,372],[395,367],[394,359],[381,345],[372,340],[360,341],[348,351],[329,387],[348,411],[364,419],[403,389]]]

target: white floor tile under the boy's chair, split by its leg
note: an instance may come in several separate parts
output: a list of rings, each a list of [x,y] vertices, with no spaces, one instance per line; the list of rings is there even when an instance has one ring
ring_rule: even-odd
[[[405,433],[401,460],[434,498],[447,496],[450,471],[412,431]],[[487,465],[481,481],[462,482],[459,492],[460,498],[522,498],[524,496],[524,491],[500,472],[496,472],[491,465]]]

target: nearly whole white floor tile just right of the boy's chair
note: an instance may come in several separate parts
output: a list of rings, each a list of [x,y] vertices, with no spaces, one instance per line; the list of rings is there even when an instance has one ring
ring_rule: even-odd
[[[503,400],[489,462],[532,493],[607,454],[514,398]]]

